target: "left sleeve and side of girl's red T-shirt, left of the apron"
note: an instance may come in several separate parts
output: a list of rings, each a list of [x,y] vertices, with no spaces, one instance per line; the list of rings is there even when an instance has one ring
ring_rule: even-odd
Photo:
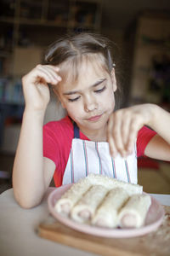
[[[54,183],[56,187],[62,184],[65,166],[71,150],[73,128],[67,117],[52,121],[43,126],[43,156],[54,161]]]

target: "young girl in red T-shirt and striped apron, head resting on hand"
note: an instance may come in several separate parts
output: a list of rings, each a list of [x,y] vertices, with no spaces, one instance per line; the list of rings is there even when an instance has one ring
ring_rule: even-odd
[[[43,124],[48,84],[68,115]],[[35,207],[56,186],[94,172],[137,183],[137,156],[170,160],[170,114],[154,104],[114,112],[117,90],[105,38],[82,33],[51,45],[23,78],[26,108],[14,160],[14,196]],[[144,125],[150,126],[151,129]]]

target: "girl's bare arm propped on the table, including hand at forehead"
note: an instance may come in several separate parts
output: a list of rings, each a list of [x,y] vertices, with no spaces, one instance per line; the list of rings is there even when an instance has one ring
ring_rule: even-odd
[[[49,101],[47,83],[59,82],[57,70],[40,65],[23,78],[26,108],[13,169],[14,196],[21,207],[39,204],[54,174],[54,162],[42,154],[42,124]]]

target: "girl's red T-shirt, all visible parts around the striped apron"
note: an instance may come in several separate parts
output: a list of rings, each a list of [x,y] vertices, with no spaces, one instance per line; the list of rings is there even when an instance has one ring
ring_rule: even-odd
[[[146,145],[155,134],[155,131],[152,131],[145,126],[139,130],[137,137],[138,157],[144,155]],[[73,137],[73,124],[68,116],[59,121],[51,121],[43,126],[43,156],[54,161],[56,166],[54,183],[56,187],[59,187],[62,184]],[[88,137],[81,131],[80,138],[89,141]]]

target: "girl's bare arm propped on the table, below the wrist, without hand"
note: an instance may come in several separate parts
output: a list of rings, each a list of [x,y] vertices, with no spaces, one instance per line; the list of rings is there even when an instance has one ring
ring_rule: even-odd
[[[25,112],[13,170],[14,195],[21,207],[39,204],[48,188],[55,166],[48,164],[47,160],[44,166],[43,162],[42,116]],[[48,182],[44,168],[50,173]]]

